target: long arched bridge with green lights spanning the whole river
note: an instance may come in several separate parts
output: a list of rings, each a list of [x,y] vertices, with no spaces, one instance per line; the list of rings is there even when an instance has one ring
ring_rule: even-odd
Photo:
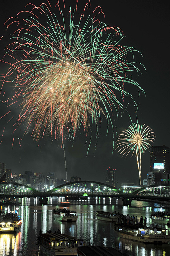
[[[61,184],[49,191],[38,191],[33,187],[22,185],[14,182],[2,182],[0,184],[0,198],[21,198],[21,197],[39,197],[47,199],[47,197],[65,197],[65,199],[79,199],[87,197],[116,197],[122,198],[129,204],[134,199],[153,199],[170,201],[170,185],[150,185],[143,186],[136,190],[121,191],[112,185],[96,181],[73,181]],[[43,200],[44,200],[43,199]]]

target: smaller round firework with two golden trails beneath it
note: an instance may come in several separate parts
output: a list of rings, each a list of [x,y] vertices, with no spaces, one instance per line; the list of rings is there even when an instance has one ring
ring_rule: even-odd
[[[124,130],[117,139],[117,149],[120,155],[125,157],[132,153],[136,155],[139,171],[139,183],[141,185],[141,153],[145,153],[151,147],[155,139],[154,132],[149,126],[132,124],[127,130]]]

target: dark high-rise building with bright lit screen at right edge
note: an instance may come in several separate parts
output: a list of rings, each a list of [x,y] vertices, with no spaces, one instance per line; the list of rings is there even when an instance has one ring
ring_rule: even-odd
[[[170,148],[163,146],[152,146],[150,149],[150,171],[170,172]]]

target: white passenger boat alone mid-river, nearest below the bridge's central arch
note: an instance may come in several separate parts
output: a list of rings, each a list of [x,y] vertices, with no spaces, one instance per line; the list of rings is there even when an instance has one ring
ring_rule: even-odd
[[[78,219],[78,214],[75,211],[70,211],[68,209],[53,209],[53,214],[55,217],[55,220],[58,221],[67,221],[67,222],[72,222],[72,221],[77,221]]]

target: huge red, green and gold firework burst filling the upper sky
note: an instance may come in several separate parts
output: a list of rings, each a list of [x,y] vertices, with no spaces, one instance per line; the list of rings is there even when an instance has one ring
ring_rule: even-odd
[[[101,116],[113,130],[112,115],[125,109],[125,97],[137,108],[128,92],[130,85],[142,91],[128,75],[140,72],[128,62],[135,49],[120,45],[118,27],[100,22],[99,6],[91,11],[88,2],[81,15],[78,9],[78,1],[69,10],[64,1],[55,7],[49,1],[28,4],[5,22],[14,32],[3,59],[10,65],[3,81],[15,83],[12,102],[21,107],[16,123],[26,122],[35,140],[50,134],[63,141],[80,126],[88,134],[93,124],[98,133]]]

